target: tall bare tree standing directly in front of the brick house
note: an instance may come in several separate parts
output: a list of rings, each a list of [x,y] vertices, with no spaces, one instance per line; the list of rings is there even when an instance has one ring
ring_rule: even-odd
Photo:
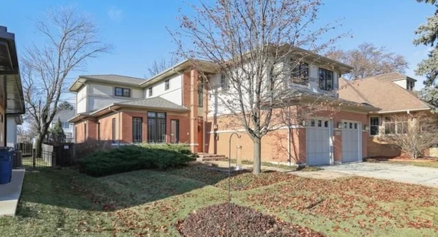
[[[319,0],[201,1],[192,6],[195,14],[181,16],[181,27],[172,33],[182,57],[210,61],[224,74],[227,89],[218,92],[218,99],[253,140],[255,174],[261,172],[261,138],[280,120],[274,118],[278,102],[300,94],[286,89],[285,80],[303,59],[326,47],[320,36],[333,29],[315,26],[320,4]],[[201,68],[203,61],[194,60],[195,67],[197,62]]]

